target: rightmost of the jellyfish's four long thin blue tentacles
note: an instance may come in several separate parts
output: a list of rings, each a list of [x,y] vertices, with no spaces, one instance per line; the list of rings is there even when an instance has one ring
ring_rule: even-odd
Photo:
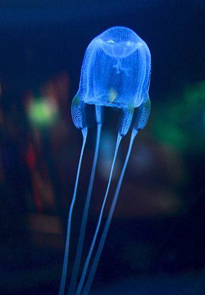
[[[124,178],[124,172],[125,172],[126,166],[128,164],[128,159],[129,159],[129,157],[131,155],[131,150],[132,150],[132,147],[133,147],[133,142],[135,140],[135,136],[137,136],[137,130],[136,129],[133,129],[133,132],[131,134],[130,144],[129,144],[129,147],[128,147],[128,152],[126,154],[126,159],[125,159],[124,165],[122,167],[122,172],[121,172],[121,175],[120,175],[120,179],[118,181],[118,185],[117,185],[117,188],[115,190],[115,195],[113,197],[113,202],[111,204],[111,208],[110,208],[110,211],[109,211],[109,215],[107,217],[107,221],[105,223],[105,227],[104,227],[104,229],[102,231],[102,236],[101,236],[100,242],[98,244],[98,249],[96,251],[96,255],[94,257],[94,261],[93,261],[92,267],[90,269],[90,273],[89,273],[88,278],[87,278],[87,282],[86,282],[85,287],[83,289],[83,295],[87,295],[90,292],[90,287],[92,285],[92,281],[93,281],[94,275],[96,273],[96,268],[98,266],[98,261],[100,259],[100,255],[102,253],[102,248],[103,248],[103,246],[105,244],[105,240],[107,238],[107,233],[109,231],[109,226],[110,226],[110,223],[111,223],[111,218],[112,218],[113,212],[115,210],[115,205],[116,205],[116,203],[118,201],[118,195],[119,195],[120,188],[121,188],[121,185],[122,185],[122,181],[123,181],[123,178]]]

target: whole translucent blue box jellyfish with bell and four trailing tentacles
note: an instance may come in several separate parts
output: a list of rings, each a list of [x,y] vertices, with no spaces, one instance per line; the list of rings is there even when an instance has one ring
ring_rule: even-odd
[[[133,142],[139,130],[146,126],[150,115],[150,99],[148,90],[150,86],[151,58],[147,44],[131,29],[126,27],[111,27],[102,34],[94,38],[85,51],[83,65],[81,68],[81,79],[79,90],[72,100],[72,120],[74,125],[81,129],[83,134],[83,143],[77,168],[77,177],[74,185],[74,192],[68,213],[68,227],[66,236],[66,249],[64,255],[64,265],[61,277],[61,285],[59,295],[64,294],[66,284],[66,272],[69,265],[69,246],[70,246],[70,229],[72,222],[72,211],[77,197],[77,188],[79,183],[79,175],[81,170],[81,162],[85,149],[87,138],[87,105],[94,105],[95,120],[96,120],[96,146],[94,151],[94,160],[90,175],[90,182],[85,198],[85,206],[79,231],[79,241],[77,244],[77,253],[74,259],[72,276],[70,279],[69,295],[87,295],[90,292],[90,287],[94,279],[94,274],[100,259],[100,254],[109,231],[109,225],[115,209],[115,204],[118,200],[120,187],[124,178],[128,159],[131,155]],[[94,185],[94,177],[96,172],[96,164],[98,159],[98,149],[100,145],[100,134],[102,129],[103,107],[115,107],[120,110],[120,118],[118,124],[118,136],[115,144],[115,152],[113,162],[107,183],[107,189],[102,201],[96,230],[92,238],[90,250],[88,251],[83,271],[79,277],[79,268],[81,264],[81,256],[83,250],[83,242],[85,238],[85,227],[87,223],[87,214],[90,207],[90,198]],[[105,118],[106,120],[106,118]],[[102,235],[99,238],[99,243],[96,248],[92,265],[94,247],[100,229],[102,216],[104,213],[113,170],[120,142],[131,129],[131,139],[128,146],[128,151],[122,166],[118,185],[113,196],[113,201],[109,209],[109,214],[105,222],[105,227],[102,229]],[[90,270],[87,273],[87,270]],[[86,281],[85,281],[86,279]]]

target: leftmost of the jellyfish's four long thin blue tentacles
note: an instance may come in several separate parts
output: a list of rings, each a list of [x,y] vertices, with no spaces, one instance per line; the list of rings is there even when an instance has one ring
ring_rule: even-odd
[[[65,285],[66,285],[66,274],[67,274],[67,268],[68,268],[68,254],[69,254],[69,247],[70,247],[70,227],[71,227],[71,221],[72,221],[72,211],[73,211],[74,202],[75,202],[76,195],[77,195],[77,188],[78,188],[78,183],[79,183],[81,163],[82,163],[82,159],[83,159],[85,142],[86,142],[86,138],[87,138],[87,127],[82,129],[82,133],[83,133],[83,144],[81,147],[81,155],[80,155],[80,159],[79,159],[79,166],[77,169],[77,177],[76,177],[75,184],[74,184],[74,192],[72,195],[72,201],[70,204],[70,209],[69,209],[69,214],[68,214],[66,248],[65,248],[65,254],[64,254],[64,265],[63,265],[63,271],[62,271],[62,277],[61,277],[61,285],[59,288],[59,295],[64,295],[64,290],[65,290]]]

